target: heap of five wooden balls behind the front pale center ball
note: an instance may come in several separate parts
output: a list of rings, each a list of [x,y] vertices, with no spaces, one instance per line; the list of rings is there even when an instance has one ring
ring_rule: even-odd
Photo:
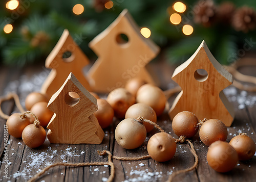
[[[106,99],[99,98],[95,93],[92,94],[98,101],[98,110],[94,115],[102,128],[108,127],[114,116],[118,119],[142,116],[157,122],[157,116],[163,113],[166,102],[165,95],[160,88],[146,84],[138,78],[131,79],[124,88],[114,89]],[[154,128],[148,123],[143,124],[146,133]]]

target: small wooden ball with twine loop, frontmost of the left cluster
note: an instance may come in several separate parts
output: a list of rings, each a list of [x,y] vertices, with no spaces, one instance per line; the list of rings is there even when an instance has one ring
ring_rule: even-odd
[[[30,148],[41,146],[46,140],[46,131],[44,127],[36,127],[34,124],[26,126],[22,132],[22,140]]]

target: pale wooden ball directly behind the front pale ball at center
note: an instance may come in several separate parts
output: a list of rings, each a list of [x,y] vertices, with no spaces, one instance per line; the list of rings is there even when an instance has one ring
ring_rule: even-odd
[[[135,105],[131,106],[127,109],[125,113],[126,118],[135,118],[142,116],[143,118],[150,120],[152,122],[157,122],[157,115],[156,112],[152,109],[152,107],[146,105],[145,103],[135,103]],[[150,123],[143,122],[144,126],[146,127],[146,132],[152,131],[154,126]]]

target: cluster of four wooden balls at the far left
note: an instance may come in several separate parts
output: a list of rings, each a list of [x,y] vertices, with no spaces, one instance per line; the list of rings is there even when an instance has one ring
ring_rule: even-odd
[[[6,121],[8,133],[15,137],[22,137],[23,142],[30,148],[42,145],[46,139],[47,126],[53,112],[47,109],[48,97],[38,92],[30,93],[25,100],[25,107],[28,111],[37,116],[38,120],[31,114],[14,113]]]

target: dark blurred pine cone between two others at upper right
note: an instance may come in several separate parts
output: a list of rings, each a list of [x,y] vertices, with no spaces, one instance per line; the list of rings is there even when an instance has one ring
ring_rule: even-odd
[[[219,20],[223,24],[230,24],[236,7],[231,2],[224,2],[220,5],[218,10]]]

